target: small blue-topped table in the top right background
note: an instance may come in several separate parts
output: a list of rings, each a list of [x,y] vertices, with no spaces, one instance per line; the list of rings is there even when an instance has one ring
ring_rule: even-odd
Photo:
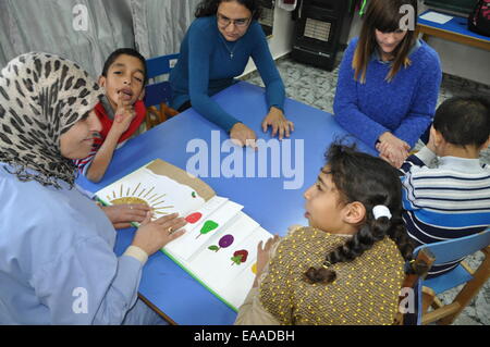
[[[436,12],[428,10],[427,12]],[[427,42],[428,36],[437,36],[446,40],[455,41],[463,45],[478,47],[490,50],[490,37],[476,34],[468,29],[468,18],[462,16],[453,16],[451,21],[444,24],[430,22],[418,17],[416,33],[424,34],[422,39]]]

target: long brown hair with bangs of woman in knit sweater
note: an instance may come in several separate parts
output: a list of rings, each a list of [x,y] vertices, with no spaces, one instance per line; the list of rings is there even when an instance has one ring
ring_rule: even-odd
[[[366,82],[366,70],[371,60],[371,55],[378,47],[376,40],[376,29],[382,33],[393,33],[400,28],[400,22],[405,15],[400,13],[402,5],[409,4],[414,8],[414,25],[417,24],[417,0],[371,0],[369,1],[363,28],[360,29],[359,40],[352,61],[354,77],[360,83]],[[404,39],[393,51],[393,65],[388,73],[387,80],[392,80],[402,66],[407,67],[411,64],[408,53],[415,44],[415,28],[408,30]]]

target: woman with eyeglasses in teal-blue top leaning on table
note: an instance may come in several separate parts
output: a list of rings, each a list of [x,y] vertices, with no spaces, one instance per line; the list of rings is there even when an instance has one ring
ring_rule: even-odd
[[[266,85],[269,113],[262,121],[262,131],[271,126],[272,136],[282,139],[294,129],[284,116],[284,84],[257,22],[261,13],[259,3],[259,0],[201,1],[170,74],[172,108],[182,112],[193,107],[226,131],[233,140],[250,147],[255,147],[257,139],[255,132],[210,97],[231,86],[252,57]]]

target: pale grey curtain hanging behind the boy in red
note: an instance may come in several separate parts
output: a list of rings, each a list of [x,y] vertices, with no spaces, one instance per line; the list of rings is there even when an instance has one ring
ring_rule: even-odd
[[[0,0],[0,66],[44,51],[98,76],[118,48],[136,48],[145,58],[179,52],[199,1]]]

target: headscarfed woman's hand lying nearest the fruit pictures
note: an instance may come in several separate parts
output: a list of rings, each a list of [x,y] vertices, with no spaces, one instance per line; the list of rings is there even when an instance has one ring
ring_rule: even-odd
[[[179,218],[179,213],[169,214],[151,221],[151,212],[148,212],[133,238],[133,246],[139,247],[148,256],[151,256],[168,243],[185,233],[179,231],[187,222]]]

